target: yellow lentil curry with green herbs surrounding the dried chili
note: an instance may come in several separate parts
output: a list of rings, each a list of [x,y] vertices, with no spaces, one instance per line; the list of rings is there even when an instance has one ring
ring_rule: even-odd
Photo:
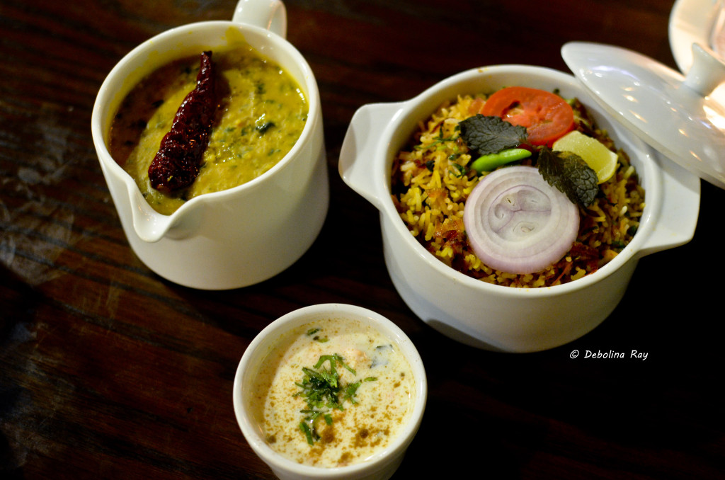
[[[305,94],[278,65],[248,45],[215,51],[213,61],[219,107],[199,175],[188,188],[157,191],[148,170],[179,105],[194,89],[199,57],[176,60],[141,80],[113,120],[111,155],[159,213],[170,215],[194,196],[257,178],[282,160],[305,128]]]

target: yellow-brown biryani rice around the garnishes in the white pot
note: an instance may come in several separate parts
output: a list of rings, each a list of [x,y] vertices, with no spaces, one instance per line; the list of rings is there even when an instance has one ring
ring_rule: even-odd
[[[486,96],[462,95],[442,104],[418,125],[409,148],[393,162],[392,191],[400,217],[431,254],[452,268],[491,284],[542,287],[566,284],[595,272],[629,244],[645,207],[645,191],[629,158],[597,129],[587,111],[572,100],[577,128],[618,155],[615,175],[600,184],[591,206],[579,207],[579,235],[558,262],[537,273],[517,275],[494,270],[477,257],[465,238],[463,209],[479,174],[468,167],[475,158],[460,138],[460,121],[475,115]],[[522,162],[531,165],[530,160]]]

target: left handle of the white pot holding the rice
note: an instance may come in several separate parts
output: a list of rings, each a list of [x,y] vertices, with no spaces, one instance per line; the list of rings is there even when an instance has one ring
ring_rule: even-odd
[[[376,174],[373,170],[376,149],[380,145],[381,133],[401,107],[402,103],[363,105],[352,116],[342,141],[338,163],[342,180],[378,210],[382,210],[382,206],[376,194],[381,178],[378,178],[379,172]]]

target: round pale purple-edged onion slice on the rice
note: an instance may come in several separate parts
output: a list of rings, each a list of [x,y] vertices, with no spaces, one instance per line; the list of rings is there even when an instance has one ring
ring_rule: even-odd
[[[536,167],[489,173],[465,202],[463,223],[473,252],[506,273],[544,270],[560,260],[579,232],[579,208]]]

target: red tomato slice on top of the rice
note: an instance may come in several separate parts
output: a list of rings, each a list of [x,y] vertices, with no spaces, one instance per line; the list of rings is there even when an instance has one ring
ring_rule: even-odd
[[[480,112],[526,127],[533,145],[551,146],[574,128],[574,112],[566,100],[537,88],[502,88],[489,96]]]

